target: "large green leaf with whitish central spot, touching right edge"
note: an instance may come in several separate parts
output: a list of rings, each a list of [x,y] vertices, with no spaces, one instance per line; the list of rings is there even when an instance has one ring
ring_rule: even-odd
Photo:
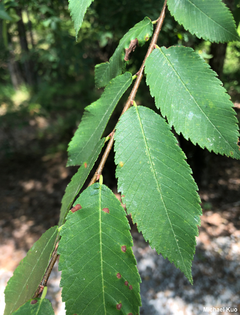
[[[176,132],[209,151],[240,158],[233,104],[222,82],[192,48],[157,48],[145,63],[157,108]]]

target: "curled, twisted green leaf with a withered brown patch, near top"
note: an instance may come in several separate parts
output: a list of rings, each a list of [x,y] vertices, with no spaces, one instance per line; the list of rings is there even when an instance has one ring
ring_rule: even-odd
[[[110,80],[120,75],[126,67],[125,49],[129,47],[130,41],[138,39],[139,46],[143,46],[145,42],[152,36],[153,24],[149,17],[145,17],[143,21],[137,23],[131,28],[120,40],[117,49],[110,58],[109,63],[100,63],[95,67],[95,83],[97,88],[106,86]]]

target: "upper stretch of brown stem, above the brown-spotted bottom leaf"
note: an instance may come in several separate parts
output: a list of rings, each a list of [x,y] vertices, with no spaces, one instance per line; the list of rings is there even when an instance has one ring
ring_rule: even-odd
[[[132,91],[128,97],[128,101],[120,115],[120,117],[122,116],[123,113],[125,113],[126,110],[128,110],[128,108],[131,106],[131,102],[134,100],[135,96],[136,96],[136,93],[137,93],[137,90],[139,88],[139,84],[143,78],[143,72],[144,72],[144,65],[145,65],[145,61],[147,59],[147,57],[150,55],[150,53],[153,51],[156,43],[157,43],[157,40],[158,40],[158,36],[159,36],[159,33],[160,33],[160,30],[161,30],[161,27],[162,27],[162,23],[163,23],[163,20],[164,20],[164,17],[165,17],[165,13],[166,13],[166,5],[167,5],[167,0],[165,0],[164,4],[163,4],[163,8],[161,10],[161,14],[158,18],[158,24],[157,24],[157,27],[155,29],[155,32],[153,34],[153,37],[152,37],[152,40],[151,40],[151,43],[148,47],[148,50],[147,50],[147,53],[145,55],[145,58],[144,58],[144,62],[140,68],[140,70],[138,71],[138,76],[137,76],[137,79],[134,83],[134,86],[132,88]],[[97,175],[100,175],[102,173],[102,170],[103,170],[103,167],[104,167],[104,164],[106,162],[106,159],[108,158],[108,155],[112,149],[112,144],[113,144],[113,138],[114,138],[114,134],[115,134],[115,128],[116,126],[114,127],[113,131],[112,131],[112,136],[111,136],[111,139],[108,143],[108,146],[102,156],[102,159],[101,159],[101,162],[100,164],[98,165],[98,168],[96,170],[96,173],[94,174],[93,178],[91,179],[90,183],[88,186],[91,186],[92,184],[94,184],[96,182],[96,178],[97,178]]]

